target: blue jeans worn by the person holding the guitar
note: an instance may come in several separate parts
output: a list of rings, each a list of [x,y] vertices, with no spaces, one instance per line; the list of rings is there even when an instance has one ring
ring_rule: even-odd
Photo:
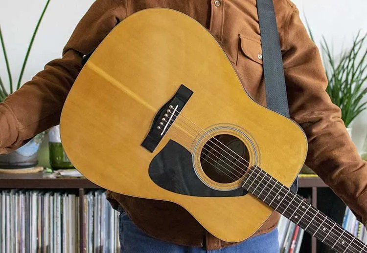
[[[142,232],[120,208],[118,217],[121,253],[279,253],[278,231],[254,236],[222,250],[207,251],[161,241]]]

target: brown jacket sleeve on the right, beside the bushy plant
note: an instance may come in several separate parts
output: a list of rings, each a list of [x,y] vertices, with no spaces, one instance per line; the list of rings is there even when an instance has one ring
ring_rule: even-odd
[[[295,8],[288,24],[284,74],[291,118],[308,139],[306,165],[367,222],[367,163],[350,139],[341,110],[325,89],[327,78],[317,46],[309,38]]]

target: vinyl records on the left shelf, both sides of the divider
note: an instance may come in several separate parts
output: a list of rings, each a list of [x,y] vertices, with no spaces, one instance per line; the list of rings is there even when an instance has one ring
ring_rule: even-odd
[[[79,197],[63,191],[0,191],[1,253],[76,253],[79,233],[87,253],[119,252],[118,212],[104,190],[84,195],[84,225],[79,227]]]

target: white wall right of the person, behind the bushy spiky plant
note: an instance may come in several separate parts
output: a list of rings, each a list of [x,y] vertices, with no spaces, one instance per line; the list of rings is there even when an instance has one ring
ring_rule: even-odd
[[[302,21],[305,17],[310,24],[316,42],[323,35],[333,45],[334,52],[351,45],[358,31],[367,33],[366,0],[293,0],[297,5]],[[320,43],[318,43],[320,47]],[[365,84],[367,85],[367,84]],[[367,101],[367,95],[364,101]],[[361,150],[367,134],[367,110],[362,112],[351,124],[352,139]]]

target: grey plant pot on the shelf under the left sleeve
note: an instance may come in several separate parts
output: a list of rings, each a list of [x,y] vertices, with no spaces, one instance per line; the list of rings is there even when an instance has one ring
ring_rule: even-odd
[[[38,150],[45,133],[40,133],[17,150],[0,155],[1,169],[25,169],[38,164]]]

